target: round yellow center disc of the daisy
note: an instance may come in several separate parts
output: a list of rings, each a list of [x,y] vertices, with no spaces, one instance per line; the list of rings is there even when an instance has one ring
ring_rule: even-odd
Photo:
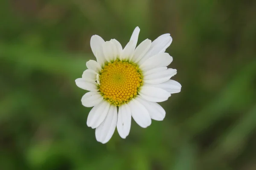
[[[116,59],[105,65],[99,81],[99,91],[104,99],[119,106],[137,95],[142,85],[142,73],[137,65]]]

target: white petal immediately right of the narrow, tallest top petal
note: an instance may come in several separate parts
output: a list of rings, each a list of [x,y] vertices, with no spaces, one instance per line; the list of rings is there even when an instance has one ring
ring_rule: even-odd
[[[140,43],[140,45],[137,46],[137,48],[134,51],[134,55],[131,55],[130,61],[133,61],[137,63],[140,61],[140,59],[145,55],[145,53],[148,51],[149,47],[151,45],[151,40],[144,40]]]

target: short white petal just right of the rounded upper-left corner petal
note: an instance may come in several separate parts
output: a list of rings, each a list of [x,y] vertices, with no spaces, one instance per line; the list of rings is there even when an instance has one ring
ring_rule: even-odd
[[[108,62],[113,62],[116,59],[116,45],[110,41],[106,41],[103,44],[103,53],[104,53],[105,59]]]

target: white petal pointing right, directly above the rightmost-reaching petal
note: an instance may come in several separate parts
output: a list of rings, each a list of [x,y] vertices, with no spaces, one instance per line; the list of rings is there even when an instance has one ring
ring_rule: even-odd
[[[143,81],[145,83],[149,83],[149,84],[160,84],[160,83],[168,81],[175,74],[177,74],[176,69],[168,68],[164,71],[159,71],[159,72],[156,72],[153,74],[148,74],[147,76],[144,76]]]

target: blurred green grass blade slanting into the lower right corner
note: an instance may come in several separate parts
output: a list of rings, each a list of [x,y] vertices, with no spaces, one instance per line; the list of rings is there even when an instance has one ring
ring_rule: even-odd
[[[215,144],[212,144],[201,158],[201,164],[223,162],[224,159],[236,159],[244,150],[251,133],[256,129],[256,105],[245,114],[235,125],[231,126]]]

